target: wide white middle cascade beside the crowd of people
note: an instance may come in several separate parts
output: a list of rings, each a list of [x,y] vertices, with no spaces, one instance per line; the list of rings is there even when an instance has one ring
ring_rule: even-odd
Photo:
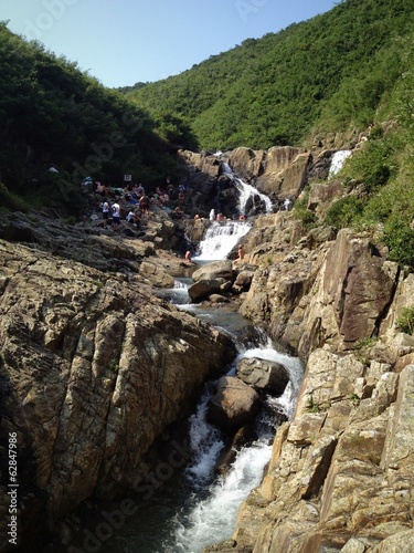
[[[224,221],[213,222],[209,227],[204,240],[200,242],[199,253],[194,261],[216,261],[225,259],[238,240],[250,231],[247,222]]]

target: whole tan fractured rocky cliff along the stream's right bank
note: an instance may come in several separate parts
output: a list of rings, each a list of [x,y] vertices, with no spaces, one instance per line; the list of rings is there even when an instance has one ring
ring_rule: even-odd
[[[244,243],[257,270],[241,311],[306,374],[233,539],[206,551],[413,551],[414,336],[397,325],[413,273],[373,236],[305,232],[290,212],[258,218]]]

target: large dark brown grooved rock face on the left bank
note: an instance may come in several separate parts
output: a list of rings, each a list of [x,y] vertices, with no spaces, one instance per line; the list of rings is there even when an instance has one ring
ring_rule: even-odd
[[[139,280],[2,240],[0,259],[1,448],[15,432],[19,539],[34,540],[84,499],[134,489],[156,437],[235,352]]]

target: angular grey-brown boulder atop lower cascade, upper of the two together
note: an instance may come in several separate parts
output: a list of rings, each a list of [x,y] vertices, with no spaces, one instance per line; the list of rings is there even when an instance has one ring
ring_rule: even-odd
[[[237,364],[236,375],[255,389],[282,395],[289,382],[289,373],[280,364],[258,357],[243,357]]]

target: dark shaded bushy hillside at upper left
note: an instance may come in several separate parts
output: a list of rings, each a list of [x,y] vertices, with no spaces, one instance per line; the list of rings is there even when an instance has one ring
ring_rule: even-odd
[[[125,174],[155,184],[173,171],[173,157],[148,115],[76,63],[23,41],[4,22],[0,60],[2,206],[82,210],[86,176],[120,186]]]

